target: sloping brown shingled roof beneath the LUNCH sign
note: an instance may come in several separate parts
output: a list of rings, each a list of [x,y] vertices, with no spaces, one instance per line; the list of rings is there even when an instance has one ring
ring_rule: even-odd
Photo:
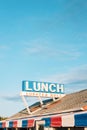
[[[57,99],[56,101],[53,101],[52,99],[44,100],[43,106],[40,105],[40,102],[36,102],[32,106],[29,106],[31,111],[30,115],[28,114],[27,109],[24,109],[17,114],[9,117],[8,119],[82,110],[84,106],[87,106],[87,89],[67,94],[63,98]]]

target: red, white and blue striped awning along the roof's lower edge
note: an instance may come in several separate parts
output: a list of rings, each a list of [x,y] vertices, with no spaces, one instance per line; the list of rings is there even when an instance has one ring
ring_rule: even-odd
[[[42,118],[24,118],[0,121],[0,128],[32,128],[35,122],[44,121],[44,127],[87,127],[87,111],[43,116]],[[41,123],[40,123],[41,124]]]

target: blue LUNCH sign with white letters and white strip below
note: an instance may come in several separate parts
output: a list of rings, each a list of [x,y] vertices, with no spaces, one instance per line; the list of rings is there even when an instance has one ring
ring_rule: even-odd
[[[64,85],[49,82],[22,81],[22,92],[24,96],[40,97],[62,97],[64,95]]]

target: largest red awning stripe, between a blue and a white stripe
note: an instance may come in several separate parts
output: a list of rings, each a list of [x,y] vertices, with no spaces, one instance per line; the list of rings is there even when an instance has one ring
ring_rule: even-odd
[[[51,126],[52,127],[61,127],[62,126],[62,118],[58,117],[51,117]]]

